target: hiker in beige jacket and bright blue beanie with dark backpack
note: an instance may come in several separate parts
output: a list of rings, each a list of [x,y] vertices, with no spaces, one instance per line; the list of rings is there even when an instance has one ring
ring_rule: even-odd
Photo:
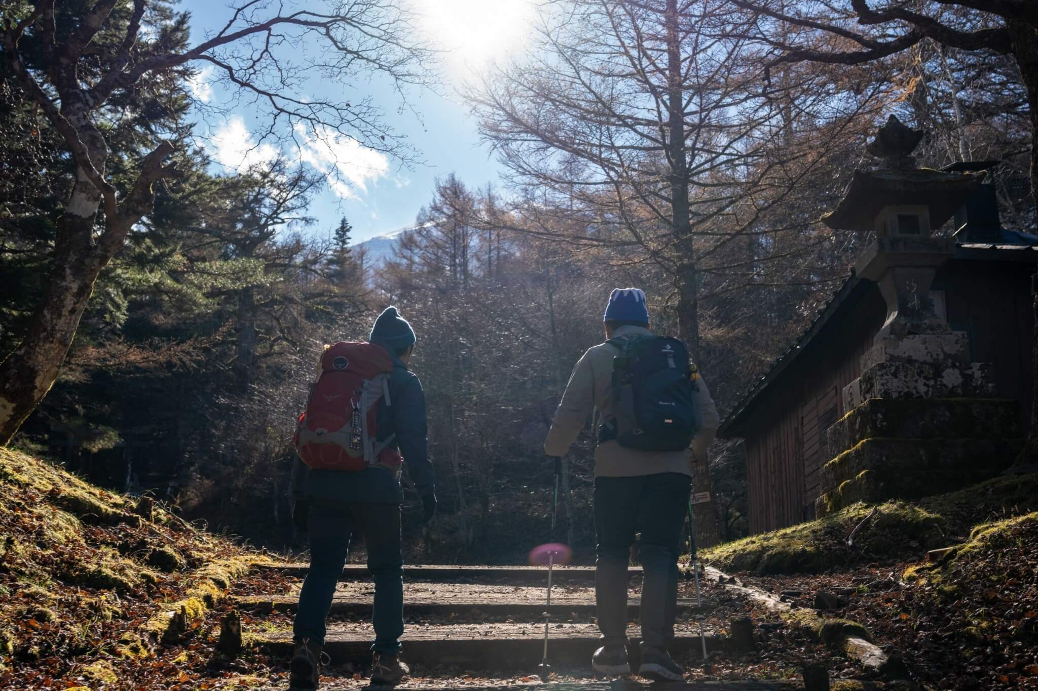
[[[720,424],[706,382],[678,339],[650,330],[646,294],[617,288],[603,317],[605,343],[577,362],[544,442],[565,456],[588,420],[597,428],[595,598],[602,646],[595,671],[627,674],[627,567],[640,531],[640,666],[654,680],[681,681],[666,646],[674,638],[678,554],[691,491],[691,461],[706,458]]]

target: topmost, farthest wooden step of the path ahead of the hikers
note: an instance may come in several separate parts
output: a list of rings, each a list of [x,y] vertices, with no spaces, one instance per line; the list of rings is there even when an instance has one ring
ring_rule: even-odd
[[[258,566],[257,569],[278,571],[286,576],[303,578],[309,570],[308,564],[278,564]],[[640,576],[641,568],[631,568],[628,577]],[[367,580],[371,574],[363,564],[347,564],[343,568],[340,580]],[[523,566],[458,566],[453,564],[419,564],[404,567],[406,580],[430,581],[468,581],[468,580],[508,580],[510,582],[547,582],[548,570],[544,567]],[[595,580],[595,567],[555,567],[552,579],[558,582],[568,580]]]

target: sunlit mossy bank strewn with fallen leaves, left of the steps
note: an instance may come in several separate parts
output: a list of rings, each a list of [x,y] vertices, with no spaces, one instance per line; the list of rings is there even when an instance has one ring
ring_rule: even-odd
[[[136,503],[0,449],[0,688],[166,688],[170,614],[198,630],[267,560]]]

